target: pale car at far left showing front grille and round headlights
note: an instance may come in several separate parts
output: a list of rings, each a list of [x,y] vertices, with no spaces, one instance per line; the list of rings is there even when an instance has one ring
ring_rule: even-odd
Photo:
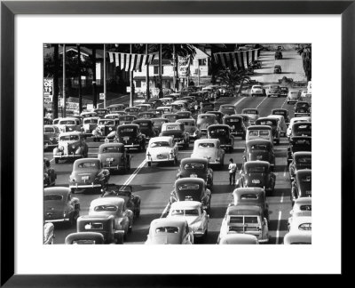
[[[58,148],[53,149],[53,158],[59,164],[59,160],[85,158],[88,151],[82,132],[64,132],[59,135]]]

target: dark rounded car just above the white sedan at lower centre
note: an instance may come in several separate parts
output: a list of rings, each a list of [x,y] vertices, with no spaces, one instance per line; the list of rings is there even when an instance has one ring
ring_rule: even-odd
[[[170,193],[170,204],[177,201],[198,201],[207,212],[210,210],[211,191],[201,178],[181,178],[174,184]]]

